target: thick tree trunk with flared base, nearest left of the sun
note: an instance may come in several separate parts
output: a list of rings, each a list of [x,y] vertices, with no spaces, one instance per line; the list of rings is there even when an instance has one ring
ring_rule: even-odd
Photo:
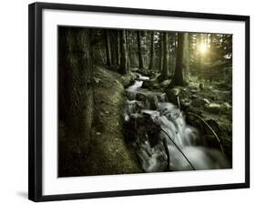
[[[170,84],[170,87],[186,85],[186,82],[184,81],[184,77],[183,77],[183,71],[184,71],[183,47],[184,47],[184,34],[179,33],[176,66],[175,66],[174,76]]]

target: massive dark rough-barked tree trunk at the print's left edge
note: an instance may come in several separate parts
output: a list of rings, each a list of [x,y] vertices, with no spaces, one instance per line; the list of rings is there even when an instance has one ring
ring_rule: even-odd
[[[72,151],[86,153],[94,109],[90,31],[71,27],[58,29],[59,119],[65,124],[70,147],[77,147]]]

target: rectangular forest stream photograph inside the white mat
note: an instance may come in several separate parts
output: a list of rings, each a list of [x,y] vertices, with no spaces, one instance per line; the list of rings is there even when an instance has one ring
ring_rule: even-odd
[[[232,35],[57,29],[58,177],[232,168]]]

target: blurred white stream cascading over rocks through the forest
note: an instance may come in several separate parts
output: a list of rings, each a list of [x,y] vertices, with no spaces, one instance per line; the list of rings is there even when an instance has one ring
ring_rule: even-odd
[[[126,138],[145,172],[230,168],[219,149],[204,145],[197,128],[186,123],[165,93],[142,88],[147,76],[128,87],[124,119]]]

